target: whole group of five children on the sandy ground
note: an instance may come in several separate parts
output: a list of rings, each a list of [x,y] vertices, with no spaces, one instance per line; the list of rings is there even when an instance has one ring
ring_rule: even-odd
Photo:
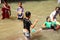
[[[56,7],[55,10],[50,14],[50,16],[46,18],[45,23],[42,25],[42,29],[54,29],[54,30],[60,29],[60,23],[56,21],[56,16],[59,13],[60,13],[60,7]],[[5,18],[9,19],[10,16],[11,16],[11,8],[8,5],[8,3],[4,1],[2,7],[2,19]],[[24,18],[24,8],[22,6],[22,2],[19,2],[17,8],[17,18],[18,20],[23,20],[23,33],[25,35],[25,39],[30,40],[30,27],[34,29],[38,20],[36,19],[32,24],[30,21],[31,12],[29,11],[25,12],[25,16],[26,17]]]

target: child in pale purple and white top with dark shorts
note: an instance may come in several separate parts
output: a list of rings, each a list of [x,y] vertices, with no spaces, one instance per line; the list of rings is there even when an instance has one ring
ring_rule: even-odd
[[[18,8],[17,8],[17,18],[18,18],[18,20],[22,20],[23,18],[24,18],[24,8],[23,8],[23,6],[22,6],[22,2],[19,2],[18,3]]]

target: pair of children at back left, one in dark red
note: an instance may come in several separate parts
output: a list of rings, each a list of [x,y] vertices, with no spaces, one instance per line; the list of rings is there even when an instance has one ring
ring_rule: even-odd
[[[7,1],[4,1],[3,6],[1,8],[1,13],[2,13],[2,19],[9,19],[11,16],[11,8]],[[21,20],[24,18],[24,8],[22,6],[22,2],[18,3],[18,8],[17,8],[17,19]]]

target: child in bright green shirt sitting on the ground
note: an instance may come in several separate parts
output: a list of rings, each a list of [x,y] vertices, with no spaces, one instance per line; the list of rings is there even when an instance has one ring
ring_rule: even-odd
[[[43,29],[54,29],[55,30],[55,27],[56,27],[56,22],[52,22],[50,20],[50,17],[48,16],[46,18],[46,22],[43,24]]]

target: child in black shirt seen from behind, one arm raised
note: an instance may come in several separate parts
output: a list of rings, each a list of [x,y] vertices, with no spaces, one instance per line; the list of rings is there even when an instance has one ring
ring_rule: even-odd
[[[24,25],[23,32],[25,35],[25,39],[30,40],[30,27],[32,27],[33,29],[38,20],[35,20],[34,23],[32,24],[31,21],[29,20],[31,17],[31,13],[29,11],[25,13],[25,16],[26,18],[23,19],[23,25]]]

